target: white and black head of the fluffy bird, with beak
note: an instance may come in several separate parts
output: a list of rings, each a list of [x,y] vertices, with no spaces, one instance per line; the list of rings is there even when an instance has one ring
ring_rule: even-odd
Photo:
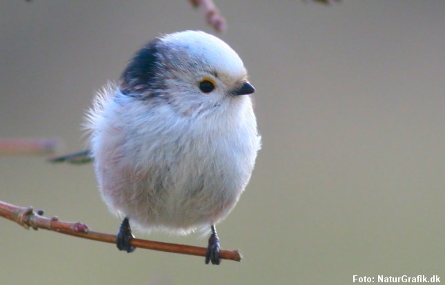
[[[150,41],[121,76],[121,92],[166,101],[181,115],[212,112],[255,92],[237,53],[200,31],[184,31]]]

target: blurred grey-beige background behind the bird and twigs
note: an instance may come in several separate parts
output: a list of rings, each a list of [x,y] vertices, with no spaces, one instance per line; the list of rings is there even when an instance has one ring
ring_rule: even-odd
[[[445,278],[445,1],[216,1],[244,60],[263,137],[219,224],[241,263],[23,230],[0,219],[11,284],[352,284]],[[0,137],[81,150],[83,114],[146,41],[215,34],[185,0],[3,1]],[[92,166],[0,157],[0,199],[116,233]],[[206,246],[199,235],[137,237]]]

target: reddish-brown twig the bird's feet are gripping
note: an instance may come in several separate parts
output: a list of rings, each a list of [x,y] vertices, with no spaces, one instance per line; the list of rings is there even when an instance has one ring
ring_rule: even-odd
[[[57,217],[43,217],[43,210],[32,210],[32,207],[19,207],[0,201],[0,217],[10,219],[12,222],[24,228],[43,228],[65,235],[92,239],[98,242],[116,243],[116,236],[106,233],[98,233],[88,228],[86,224],[80,222],[63,222]],[[152,250],[166,251],[168,253],[181,253],[186,255],[206,256],[206,248],[199,246],[187,246],[184,244],[168,244],[166,242],[153,242],[145,239],[131,239],[131,246]],[[221,259],[241,261],[239,250],[221,250]]]

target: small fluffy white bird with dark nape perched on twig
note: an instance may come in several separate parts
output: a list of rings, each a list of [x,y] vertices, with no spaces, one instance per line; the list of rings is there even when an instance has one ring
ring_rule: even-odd
[[[215,224],[237,204],[261,148],[253,92],[237,53],[191,30],[150,41],[98,92],[82,154],[123,218],[119,250],[135,249],[130,223],[179,235],[210,229],[205,262],[219,264]]]

